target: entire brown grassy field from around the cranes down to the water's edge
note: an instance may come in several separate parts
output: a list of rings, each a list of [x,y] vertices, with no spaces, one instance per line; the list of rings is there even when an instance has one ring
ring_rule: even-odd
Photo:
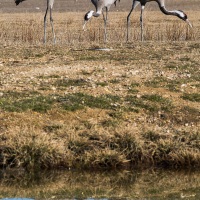
[[[126,43],[127,4],[109,13],[106,44],[102,18],[82,30],[88,8],[55,8],[56,45],[50,27],[43,45],[44,12],[4,8],[0,165],[199,168],[200,13],[198,1],[193,11],[187,2],[193,29],[147,7],[143,43],[139,11]]]

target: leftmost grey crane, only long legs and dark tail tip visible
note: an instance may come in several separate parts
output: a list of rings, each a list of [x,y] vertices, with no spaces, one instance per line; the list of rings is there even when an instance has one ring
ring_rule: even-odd
[[[26,0],[15,0],[16,5],[18,5],[19,3],[26,1]],[[53,4],[54,4],[54,0],[47,0],[47,8],[46,8],[46,12],[44,15],[44,43],[46,43],[46,18],[47,18],[47,13],[48,10],[50,9],[50,22],[51,22],[51,28],[52,28],[52,33],[53,33],[53,41],[54,43],[56,43],[56,35],[54,32],[54,26],[53,26],[53,18],[52,18],[52,9],[53,9]]]

